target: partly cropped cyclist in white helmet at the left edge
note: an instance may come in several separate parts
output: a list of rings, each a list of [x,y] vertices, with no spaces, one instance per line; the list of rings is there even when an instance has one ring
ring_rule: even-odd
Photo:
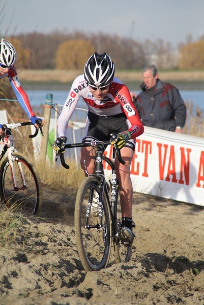
[[[14,67],[14,64],[16,62],[16,57],[17,54],[12,44],[9,41],[2,38],[0,43],[0,78],[2,77],[9,78],[9,81],[11,83],[11,86],[14,90],[14,93],[16,95],[16,98],[20,106],[23,108],[28,118],[36,126],[36,128],[39,128],[39,125],[36,124],[36,120],[41,121],[41,126],[44,125],[44,120],[35,116],[35,113],[31,109],[31,105],[28,100],[27,94],[24,92],[23,88],[21,87],[16,68]],[[3,135],[2,124],[0,124],[0,136],[1,135]]]

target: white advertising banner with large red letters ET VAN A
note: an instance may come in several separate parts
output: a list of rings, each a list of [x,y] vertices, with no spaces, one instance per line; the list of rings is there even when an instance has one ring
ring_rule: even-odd
[[[135,192],[204,206],[204,139],[145,127],[131,178]]]

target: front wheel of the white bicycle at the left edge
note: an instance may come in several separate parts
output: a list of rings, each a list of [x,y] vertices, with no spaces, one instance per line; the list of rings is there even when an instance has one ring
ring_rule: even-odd
[[[42,186],[33,162],[21,153],[13,153],[13,165],[17,187],[14,188],[9,160],[6,158],[0,169],[0,189],[6,204],[20,204],[24,214],[40,214],[42,207]],[[22,182],[22,173],[25,183]]]

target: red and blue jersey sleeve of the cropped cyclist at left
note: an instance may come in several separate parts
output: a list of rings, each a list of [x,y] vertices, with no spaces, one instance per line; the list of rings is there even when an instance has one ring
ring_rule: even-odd
[[[9,81],[11,83],[11,86],[14,90],[14,93],[16,95],[16,98],[27,114],[28,118],[31,118],[32,116],[35,116],[35,113],[31,109],[30,102],[28,100],[27,94],[24,92],[23,88],[21,87],[20,81],[18,79],[17,71],[14,66],[9,68],[9,71],[5,74],[0,74],[0,78],[8,77]]]

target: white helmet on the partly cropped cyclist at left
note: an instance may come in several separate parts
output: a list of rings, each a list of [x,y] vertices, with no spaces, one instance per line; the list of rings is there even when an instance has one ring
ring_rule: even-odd
[[[2,38],[0,42],[0,65],[10,68],[16,62],[16,50],[12,44]]]

